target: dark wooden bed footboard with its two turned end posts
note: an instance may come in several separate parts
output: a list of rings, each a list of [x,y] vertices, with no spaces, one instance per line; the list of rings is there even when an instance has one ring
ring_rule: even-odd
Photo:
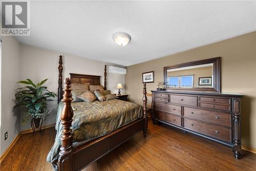
[[[147,133],[147,114],[146,114],[146,103],[147,103],[147,97],[146,97],[146,83],[143,84],[143,117],[140,118],[137,121],[134,121],[132,123],[129,123],[128,125],[121,127],[120,129],[116,130],[115,132],[103,136],[99,139],[96,139],[89,144],[79,146],[79,149],[74,149],[73,147],[73,135],[71,134],[71,126],[72,126],[72,118],[73,118],[73,110],[71,106],[71,102],[73,100],[72,94],[71,94],[71,80],[70,78],[66,78],[65,80],[65,89],[64,89],[64,95],[63,101],[64,107],[61,113],[61,124],[63,127],[62,136],[60,140],[62,141],[60,152],[59,152],[59,158],[58,158],[58,170],[59,171],[74,171],[74,170],[80,170],[81,168],[84,168],[91,164],[93,161],[96,161],[103,155],[109,153],[112,149],[119,146],[129,138],[131,138],[136,133],[143,131],[143,137],[146,138]],[[125,134],[124,134],[125,133]],[[122,136],[120,136],[122,135]],[[126,135],[126,136],[124,136]],[[98,146],[102,142],[109,141],[109,145],[106,145],[106,152],[98,153],[98,148],[95,148],[95,146]],[[108,144],[103,143],[103,144]],[[112,144],[112,145],[111,145]],[[102,148],[102,145],[100,145]],[[90,149],[90,150],[89,150]],[[95,152],[94,155],[89,154],[88,152]],[[77,156],[83,156],[82,159],[86,159],[86,156],[93,156],[93,158],[89,158],[88,160],[79,160]],[[76,160],[77,159],[77,160]]]

